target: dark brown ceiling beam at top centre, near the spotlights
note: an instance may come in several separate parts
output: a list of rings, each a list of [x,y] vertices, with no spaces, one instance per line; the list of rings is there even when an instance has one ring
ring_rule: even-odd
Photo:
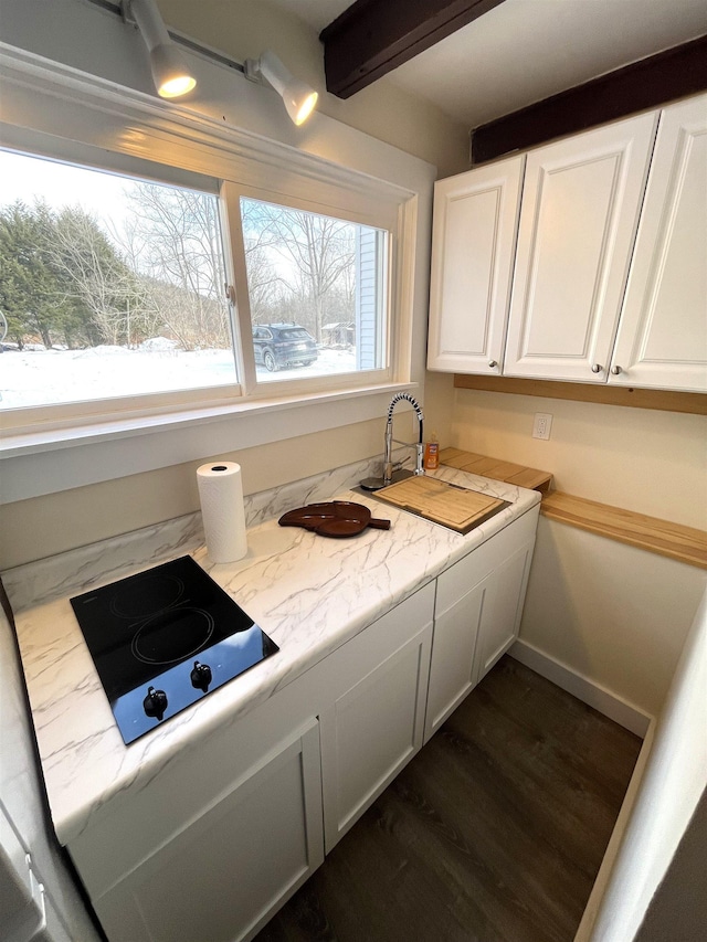
[[[504,0],[356,0],[329,23],[327,92],[350,98]]]

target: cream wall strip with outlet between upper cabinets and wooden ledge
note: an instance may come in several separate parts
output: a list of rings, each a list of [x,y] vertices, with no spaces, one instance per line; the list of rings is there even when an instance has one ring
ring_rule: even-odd
[[[536,412],[553,416],[547,442]],[[455,390],[454,444],[544,468],[555,489],[707,529],[707,416]]]

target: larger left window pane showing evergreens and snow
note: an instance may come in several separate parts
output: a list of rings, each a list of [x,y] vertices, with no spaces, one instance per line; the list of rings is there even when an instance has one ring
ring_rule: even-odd
[[[10,151],[0,176],[2,410],[235,384],[215,192]]]

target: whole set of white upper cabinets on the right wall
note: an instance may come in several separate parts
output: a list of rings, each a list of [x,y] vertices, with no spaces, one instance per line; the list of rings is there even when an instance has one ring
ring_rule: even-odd
[[[706,392],[707,95],[439,181],[432,245],[431,370]]]

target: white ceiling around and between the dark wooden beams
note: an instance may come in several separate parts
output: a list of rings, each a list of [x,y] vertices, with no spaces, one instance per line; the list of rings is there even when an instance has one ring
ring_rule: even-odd
[[[271,2],[320,31],[351,0]],[[705,33],[705,0],[505,0],[381,81],[473,128]]]

